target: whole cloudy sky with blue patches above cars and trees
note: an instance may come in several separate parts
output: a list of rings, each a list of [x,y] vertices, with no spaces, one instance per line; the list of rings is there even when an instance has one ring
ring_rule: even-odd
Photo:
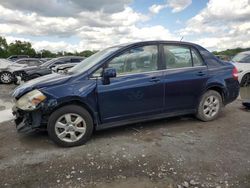
[[[39,51],[182,40],[210,51],[250,47],[250,0],[0,0],[0,36]]]

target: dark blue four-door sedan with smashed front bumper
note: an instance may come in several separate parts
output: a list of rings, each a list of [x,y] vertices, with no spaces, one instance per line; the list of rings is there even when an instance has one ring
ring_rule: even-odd
[[[45,129],[57,144],[77,146],[93,130],[184,114],[214,120],[238,97],[237,79],[231,63],[199,45],[137,42],[23,84],[13,114],[19,132]]]

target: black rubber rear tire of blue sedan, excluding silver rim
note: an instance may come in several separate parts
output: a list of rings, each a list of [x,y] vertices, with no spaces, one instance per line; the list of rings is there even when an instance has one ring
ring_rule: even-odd
[[[209,96],[216,96],[219,100],[219,110],[217,112],[217,114],[215,116],[213,116],[212,118],[208,118],[204,115],[204,112],[203,112],[203,105],[204,105],[204,102],[205,100],[209,97]],[[220,112],[222,110],[222,107],[223,107],[223,102],[222,102],[222,97],[220,95],[220,93],[218,93],[217,91],[214,91],[214,90],[208,90],[206,93],[204,93],[201,97],[201,100],[199,102],[199,106],[198,106],[198,109],[197,109],[197,113],[196,113],[196,117],[198,119],[200,119],[201,121],[212,121],[214,119],[216,119],[219,115],[220,115]]]

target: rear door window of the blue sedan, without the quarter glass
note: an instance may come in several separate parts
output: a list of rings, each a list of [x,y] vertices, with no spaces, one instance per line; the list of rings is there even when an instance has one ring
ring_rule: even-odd
[[[192,67],[192,57],[188,47],[165,45],[163,48],[167,69]]]

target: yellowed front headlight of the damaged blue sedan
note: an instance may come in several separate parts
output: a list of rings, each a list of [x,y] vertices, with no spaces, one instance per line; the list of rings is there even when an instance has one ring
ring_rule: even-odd
[[[16,106],[22,110],[34,110],[45,99],[46,96],[41,91],[35,89],[17,100]]]

